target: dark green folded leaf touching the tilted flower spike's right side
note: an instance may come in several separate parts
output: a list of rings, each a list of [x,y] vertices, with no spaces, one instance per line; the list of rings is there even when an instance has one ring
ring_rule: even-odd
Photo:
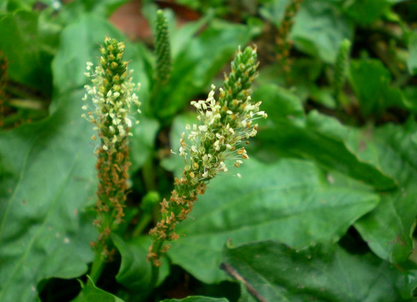
[[[310,112],[305,119],[297,119],[302,117],[301,101],[297,103],[294,96],[283,97],[280,91],[273,89],[273,86],[263,86],[254,93],[256,99],[263,100],[262,106],[269,115],[267,125],[257,136],[263,149],[271,149],[273,156],[314,160],[325,169],[344,173],[377,190],[396,187],[395,179],[384,173],[378,165],[373,165],[373,162],[358,158],[347,146],[345,138],[356,133],[354,128],[343,126],[336,119],[316,111]],[[277,110],[279,107],[284,109]]]

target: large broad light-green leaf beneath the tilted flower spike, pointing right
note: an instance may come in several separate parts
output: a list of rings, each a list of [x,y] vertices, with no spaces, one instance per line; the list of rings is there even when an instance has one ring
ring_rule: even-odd
[[[229,238],[241,244],[273,239],[302,248],[337,242],[347,228],[377,205],[366,190],[329,185],[311,162],[280,160],[265,165],[251,159],[242,179],[222,175],[211,181],[191,213],[177,227],[185,234],[168,255],[199,280],[224,279],[220,251]]]

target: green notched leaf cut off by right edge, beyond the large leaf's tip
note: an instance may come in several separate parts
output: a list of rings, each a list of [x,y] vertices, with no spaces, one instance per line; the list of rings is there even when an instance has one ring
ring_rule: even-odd
[[[417,216],[417,125],[366,128],[349,144],[363,160],[373,161],[399,183],[398,190],[381,193],[381,203],[355,224],[370,248],[392,262],[407,260]],[[389,226],[387,228],[386,226]]]

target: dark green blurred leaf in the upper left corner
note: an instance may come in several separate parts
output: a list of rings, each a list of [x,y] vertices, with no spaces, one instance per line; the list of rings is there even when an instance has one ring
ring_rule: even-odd
[[[0,49],[8,59],[8,77],[44,95],[50,95],[52,87],[48,31],[38,12],[21,10],[0,19]]]

